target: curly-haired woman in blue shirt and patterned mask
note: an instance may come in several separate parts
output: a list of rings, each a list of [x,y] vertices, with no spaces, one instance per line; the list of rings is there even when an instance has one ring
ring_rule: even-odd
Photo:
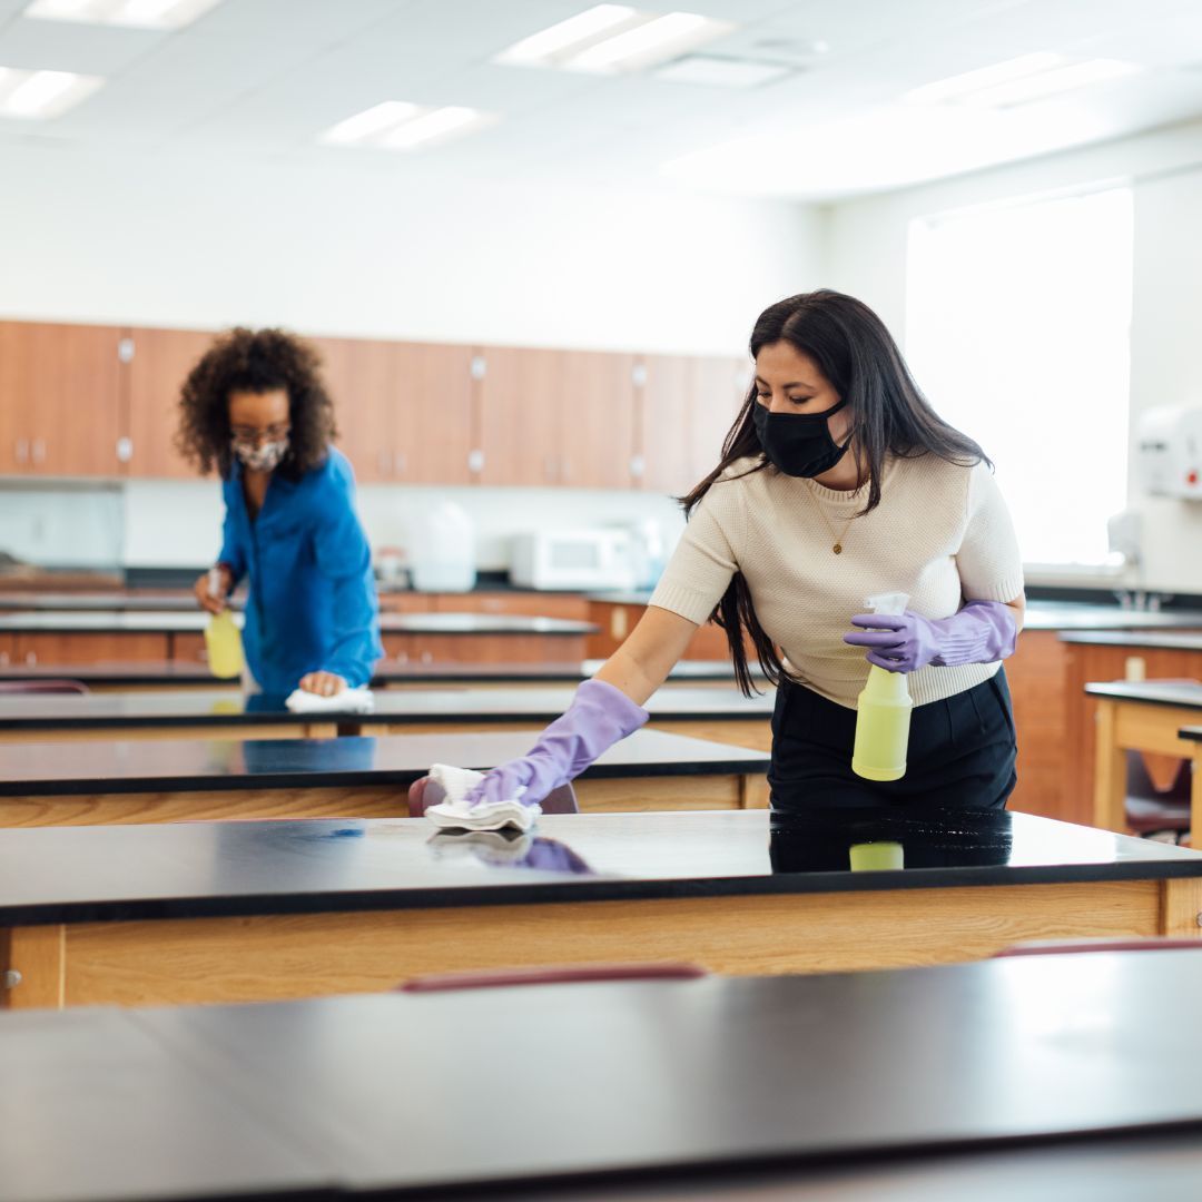
[[[219,613],[249,581],[243,648],[268,694],[333,696],[367,684],[383,654],[371,553],[355,512],[355,475],[331,440],[334,410],[317,352],[279,329],[233,329],[184,382],[178,446],[225,498],[220,587],[196,596]]]

